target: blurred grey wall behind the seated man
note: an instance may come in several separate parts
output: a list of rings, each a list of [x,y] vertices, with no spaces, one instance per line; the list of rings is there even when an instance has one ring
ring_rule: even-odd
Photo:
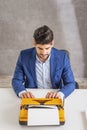
[[[87,0],[0,0],[0,75],[12,75],[21,49],[44,24],[68,49],[75,77],[87,77]]]

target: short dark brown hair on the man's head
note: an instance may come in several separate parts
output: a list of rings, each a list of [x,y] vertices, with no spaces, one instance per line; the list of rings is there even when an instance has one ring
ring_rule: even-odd
[[[53,31],[46,25],[39,27],[34,32],[34,39],[37,44],[48,44],[53,40]]]

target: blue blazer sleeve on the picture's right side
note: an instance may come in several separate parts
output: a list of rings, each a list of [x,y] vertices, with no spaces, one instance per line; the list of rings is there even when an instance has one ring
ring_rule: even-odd
[[[65,97],[69,96],[75,89],[74,75],[67,54],[64,57],[64,68],[62,72],[63,87],[60,89]]]

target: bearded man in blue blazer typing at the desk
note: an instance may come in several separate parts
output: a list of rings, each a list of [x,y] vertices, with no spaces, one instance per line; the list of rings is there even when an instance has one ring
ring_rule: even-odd
[[[22,50],[12,79],[15,93],[34,98],[26,88],[57,89],[46,98],[63,98],[75,89],[75,80],[67,54],[54,48],[53,31],[46,25],[34,32],[34,47]]]

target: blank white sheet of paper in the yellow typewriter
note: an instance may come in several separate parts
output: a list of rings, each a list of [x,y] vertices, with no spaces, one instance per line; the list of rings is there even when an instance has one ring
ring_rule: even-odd
[[[57,106],[34,105],[28,108],[28,126],[59,125]]]

